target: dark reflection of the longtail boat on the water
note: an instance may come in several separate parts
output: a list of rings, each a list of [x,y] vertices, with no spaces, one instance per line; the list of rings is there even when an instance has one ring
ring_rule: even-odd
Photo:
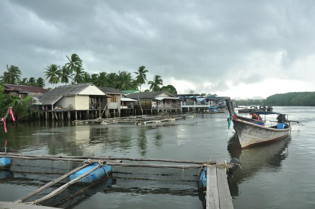
[[[241,149],[237,136],[234,134],[228,141],[227,150],[231,158],[240,160],[241,168],[237,169],[230,182],[231,195],[238,196],[237,185],[255,176],[262,169],[278,172],[282,167],[282,161],[288,156],[289,142],[290,136],[287,136],[270,144]]]

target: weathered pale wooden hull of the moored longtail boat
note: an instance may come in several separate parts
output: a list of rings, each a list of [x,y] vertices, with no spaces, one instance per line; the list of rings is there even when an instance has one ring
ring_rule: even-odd
[[[277,129],[240,119],[234,119],[233,123],[242,149],[282,139],[287,136],[291,130],[291,127]]]

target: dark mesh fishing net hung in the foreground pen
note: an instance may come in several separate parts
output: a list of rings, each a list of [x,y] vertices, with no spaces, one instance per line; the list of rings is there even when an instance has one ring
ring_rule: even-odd
[[[148,162],[130,162],[124,163],[148,165]],[[150,162],[151,163],[151,162]],[[165,168],[163,165],[178,165],[176,163],[161,163],[158,166],[149,167],[129,167],[113,166],[112,174],[109,177],[99,179],[90,184],[73,183],[66,186],[56,194],[50,195],[63,184],[69,182],[69,178],[63,179],[58,183],[50,186],[40,193],[26,199],[27,202],[36,202],[42,197],[48,195],[40,202],[40,205],[58,208],[66,208],[82,201],[86,197],[97,192],[136,192],[152,194],[173,194],[173,195],[190,195],[198,196],[197,174],[200,165],[195,168]],[[20,178],[23,185],[32,185],[39,188],[46,183],[57,179],[63,174],[82,165],[82,162],[60,161],[60,160],[28,160],[14,159],[11,162],[6,180],[16,181]],[[150,164],[151,165],[151,164]]]

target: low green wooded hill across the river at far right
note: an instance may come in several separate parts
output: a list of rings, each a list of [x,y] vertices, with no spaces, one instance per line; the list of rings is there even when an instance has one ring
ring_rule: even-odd
[[[277,93],[264,100],[265,105],[315,106],[315,91]]]

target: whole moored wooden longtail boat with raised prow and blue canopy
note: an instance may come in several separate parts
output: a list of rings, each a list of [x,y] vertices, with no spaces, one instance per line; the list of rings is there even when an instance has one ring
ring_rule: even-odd
[[[226,99],[227,109],[230,117],[228,121],[233,121],[233,128],[236,132],[237,138],[241,144],[242,149],[251,147],[253,145],[263,144],[274,140],[284,138],[290,133],[291,126],[289,121],[285,118],[284,114],[274,112],[254,112],[259,115],[277,114],[277,125],[265,126],[255,124],[252,121],[245,120],[244,117],[239,117],[235,114],[233,105],[230,99]]]

